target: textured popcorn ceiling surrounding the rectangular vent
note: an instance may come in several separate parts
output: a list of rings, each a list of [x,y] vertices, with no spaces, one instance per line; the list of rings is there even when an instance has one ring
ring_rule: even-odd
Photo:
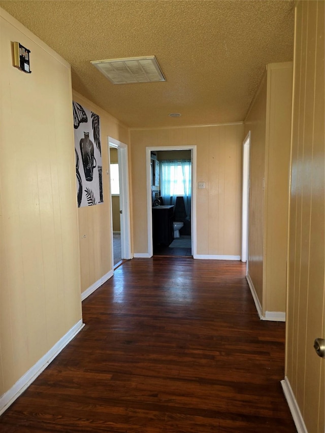
[[[241,121],[265,65],[293,58],[294,3],[287,0],[0,6],[71,64],[76,91],[131,127]],[[114,85],[90,63],[151,55],[166,82]],[[182,116],[168,117],[175,112]]]

